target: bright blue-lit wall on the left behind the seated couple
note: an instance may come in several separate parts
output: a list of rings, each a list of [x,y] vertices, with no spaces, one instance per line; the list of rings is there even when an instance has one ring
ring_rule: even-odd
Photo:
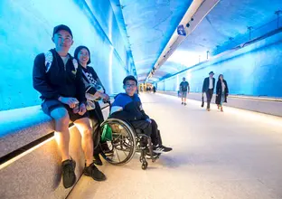
[[[108,0],[1,0],[0,110],[41,103],[33,90],[33,60],[54,47],[52,28],[57,24],[71,27],[71,54],[80,44],[89,47],[91,66],[108,93],[122,91],[133,64]]]

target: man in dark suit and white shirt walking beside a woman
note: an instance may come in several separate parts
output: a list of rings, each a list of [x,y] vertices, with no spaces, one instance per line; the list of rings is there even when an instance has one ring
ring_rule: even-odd
[[[209,73],[210,77],[207,77],[204,79],[203,84],[202,84],[202,96],[203,93],[206,94],[207,97],[207,110],[211,110],[211,99],[212,99],[212,94],[214,90],[214,85],[215,85],[215,79],[213,78],[213,71]]]

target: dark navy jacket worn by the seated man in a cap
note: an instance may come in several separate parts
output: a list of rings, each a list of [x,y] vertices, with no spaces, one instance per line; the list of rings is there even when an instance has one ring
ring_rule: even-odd
[[[81,80],[81,70],[75,69],[74,58],[69,54],[70,59],[64,66],[58,52],[54,49],[50,52],[52,52],[52,65],[48,71],[44,53],[38,54],[34,60],[33,88],[42,94],[42,100],[57,100],[62,96],[76,98],[80,103],[85,103],[85,87]]]

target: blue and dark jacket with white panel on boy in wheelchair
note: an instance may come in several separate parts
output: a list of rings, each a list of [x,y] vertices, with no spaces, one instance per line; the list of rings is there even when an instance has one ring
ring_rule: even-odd
[[[119,109],[116,111],[116,109]],[[116,96],[111,106],[110,118],[120,118],[127,121],[146,120],[149,118],[142,108],[141,100],[137,94],[133,97],[127,93],[120,93]]]

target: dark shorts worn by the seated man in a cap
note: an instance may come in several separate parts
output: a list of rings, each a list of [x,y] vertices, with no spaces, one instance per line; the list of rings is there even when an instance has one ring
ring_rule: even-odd
[[[52,117],[51,116],[52,110],[58,109],[58,108],[66,109],[69,113],[69,116],[70,116],[70,119],[71,119],[72,122],[77,120],[77,119],[80,119],[80,118],[88,118],[88,116],[89,116],[87,111],[82,116],[80,116],[80,114],[73,113],[72,109],[69,107],[69,105],[63,104],[59,100],[44,100],[43,103],[42,103],[43,112],[50,117]]]

